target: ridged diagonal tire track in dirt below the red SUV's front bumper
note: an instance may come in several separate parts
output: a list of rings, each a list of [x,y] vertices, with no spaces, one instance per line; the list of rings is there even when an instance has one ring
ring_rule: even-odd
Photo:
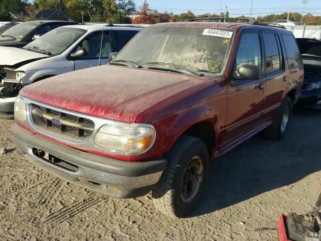
[[[62,223],[66,219],[69,219],[76,214],[86,210],[87,208],[107,199],[107,196],[101,195],[99,197],[88,197],[81,201],[74,202],[71,205],[63,207],[56,212],[49,214],[44,223],[57,224]]]

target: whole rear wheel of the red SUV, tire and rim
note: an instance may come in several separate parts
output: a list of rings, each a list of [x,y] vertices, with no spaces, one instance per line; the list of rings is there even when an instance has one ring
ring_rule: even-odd
[[[281,140],[285,137],[290,124],[292,112],[292,101],[285,96],[276,114],[273,123],[265,129],[265,137],[271,140]]]

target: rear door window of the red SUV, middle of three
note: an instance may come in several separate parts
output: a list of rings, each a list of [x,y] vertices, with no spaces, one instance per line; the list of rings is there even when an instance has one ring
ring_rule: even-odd
[[[271,73],[282,68],[282,53],[277,36],[274,33],[263,33],[265,47],[265,72]]]

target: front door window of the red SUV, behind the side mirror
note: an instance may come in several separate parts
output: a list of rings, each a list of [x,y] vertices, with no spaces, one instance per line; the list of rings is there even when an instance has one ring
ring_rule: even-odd
[[[236,69],[242,63],[261,66],[261,44],[257,33],[243,34],[236,54]]]

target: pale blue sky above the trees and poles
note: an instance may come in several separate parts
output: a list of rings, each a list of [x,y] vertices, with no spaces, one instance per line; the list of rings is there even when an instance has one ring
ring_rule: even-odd
[[[136,0],[137,7],[141,6],[144,0]],[[251,0],[223,0],[224,6],[228,6],[230,17],[241,15],[250,15]],[[158,10],[158,12],[173,12],[174,14],[186,13],[192,11],[196,15],[204,13],[219,14],[221,9],[221,0],[147,0],[149,8]],[[253,0],[252,16],[264,16],[267,14],[281,14],[288,12],[291,5],[291,12],[303,12],[302,0]],[[309,0],[305,4],[304,14],[311,13],[313,16],[321,16],[321,0]]]

